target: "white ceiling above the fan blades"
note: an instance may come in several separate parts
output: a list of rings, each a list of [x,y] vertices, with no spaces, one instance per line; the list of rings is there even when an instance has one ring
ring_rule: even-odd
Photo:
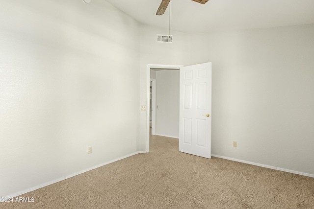
[[[140,23],[169,28],[161,0],[106,0]],[[202,33],[314,23],[314,0],[171,0],[171,30]]]

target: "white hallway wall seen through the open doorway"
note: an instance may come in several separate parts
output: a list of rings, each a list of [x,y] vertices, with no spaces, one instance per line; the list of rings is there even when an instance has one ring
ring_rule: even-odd
[[[179,139],[180,70],[156,72],[156,135]]]

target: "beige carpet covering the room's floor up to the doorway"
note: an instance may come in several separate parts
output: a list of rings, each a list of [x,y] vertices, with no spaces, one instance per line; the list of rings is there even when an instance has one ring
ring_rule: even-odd
[[[314,178],[178,151],[137,154],[4,209],[314,209]]]

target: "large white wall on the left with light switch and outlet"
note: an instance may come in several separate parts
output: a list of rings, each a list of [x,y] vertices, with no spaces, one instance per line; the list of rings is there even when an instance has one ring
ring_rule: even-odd
[[[139,29],[104,0],[1,2],[1,197],[138,150]]]

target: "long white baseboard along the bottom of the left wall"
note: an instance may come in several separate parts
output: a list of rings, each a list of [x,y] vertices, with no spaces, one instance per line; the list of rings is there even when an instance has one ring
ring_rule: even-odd
[[[57,182],[60,182],[60,181],[63,181],[63,180],[66,180],[66,179],[69,179],[69,178],[71,178],[71,177],[74,177],[74,176],[77,176],[77,175],[79,175],[79,174],[85,173],[85,172],[87,172],[87,171],[93,170],[93,169],[95,169],[95,168],[104,166],[104,165],[106,165],[106,164],[110,164],[110,163],[114,163],[114,162],[116,162],[116,161],[120,161],[120,160],[122,160],[122,159],[131,157],[131,156],[136,155],[136,154],[138,154],[138,153],[141,153],[141,152],[134,152],[134,153],[131,153],[131,154],[129,154],[129,155],[125,155],[125,156],[123,156],[123,157],[121,157],[121,158],[117,158],[117,159],[114,159],[114,160],[112,160],[112,161],[109,161],[109,162],[106,162],[106,163],[102,163],[102,164],[98,164],[98,165],[95,165],[95,166],[93,166],[93,167],[90,167],[90,168],[87,168],[87,169],[78,171],[78,172],[73,173],[73,174],[71,174],[71,175],[68,175],[68,176],[65,176],[65,177],[61,177],[61,178],[52,180],[52,181],[50,181],[50,182],[46,182],[46,183],[41,184],[41,185],[37,185],[37,186],[31,187],[31,188],[27,188],[27,189],[22,190],[22,191],[15,192],[15,193],[10,194],[10,195],[7,195],[7,196],[5,196],[5,197],[17,197],[17,196],[20,196],[20,195],[25,194],[25,193],[27,193],[27,192],[30,192],[30,191],[33,191],[33,190],[36,190],[36,189],[39,189],[39,188],[42,188],[42,187],[45,187],[45,186],[49,186],[49,185],[52,185],[52,184],[54,184],[54,183],[57,183]],[[1,200],[0,200],[0,202],[1,202]]]

